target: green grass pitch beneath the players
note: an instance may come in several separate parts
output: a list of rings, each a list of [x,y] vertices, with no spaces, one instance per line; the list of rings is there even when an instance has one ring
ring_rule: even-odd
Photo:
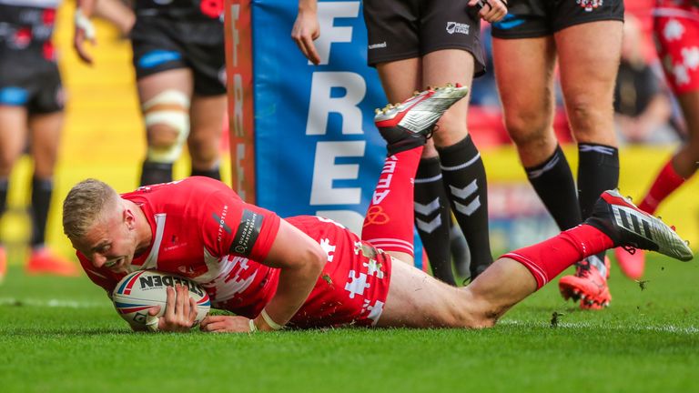
[[[699,264],[613,268],[602,312],[556,285],[496,328],[132,333],[85,277],[0,285],[0,392],[699,391]],[[552,327],[552,313],[562,313]]]

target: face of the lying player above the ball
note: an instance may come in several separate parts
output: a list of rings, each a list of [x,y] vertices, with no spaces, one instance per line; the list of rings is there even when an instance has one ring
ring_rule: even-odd
[[[94,267],[106,267],[115,273],[128,273],[136,251],[136,230],[123,214],[107,217],[87,231],[74,247],[87,257]]]

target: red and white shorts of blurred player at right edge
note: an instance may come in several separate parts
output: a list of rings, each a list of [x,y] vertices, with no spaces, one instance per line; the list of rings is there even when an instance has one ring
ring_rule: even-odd
[[[674,94],[699,90],[699,7],[670,2],[655,8],[654,34]]]

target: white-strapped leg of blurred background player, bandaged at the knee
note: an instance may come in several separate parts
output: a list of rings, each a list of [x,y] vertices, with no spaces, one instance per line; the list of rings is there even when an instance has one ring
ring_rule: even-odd
[[[147,131],[147,157],[140,185],[172,181],[172,166],[189,134],[192,72],[177,68],[137,81]]]

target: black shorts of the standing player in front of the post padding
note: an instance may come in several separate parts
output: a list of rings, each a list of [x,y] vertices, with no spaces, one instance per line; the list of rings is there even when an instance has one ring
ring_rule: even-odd
[[[441,49],[473,55],[474,74],[485,71],[481,19],[454,0],[364,0],[369,65],[421,57]]]

